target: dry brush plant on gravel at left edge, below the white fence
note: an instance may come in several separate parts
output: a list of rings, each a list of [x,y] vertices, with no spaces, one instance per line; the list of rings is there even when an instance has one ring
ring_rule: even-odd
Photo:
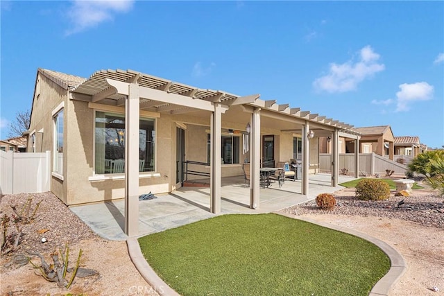
[[[0,254],[2,256],[17,249],[23,235],[22,225],[33,223],[41,202],[42,200],[37,202],[34,209],[31,210],[33,204],[33,198],[31,196],[20,209],[17,209],[17,204],[11,206],[14,214],[11,214],[10,216],[3,214],[3,216],[1,216]],[[10,228],[14,231],[10,231]]]

